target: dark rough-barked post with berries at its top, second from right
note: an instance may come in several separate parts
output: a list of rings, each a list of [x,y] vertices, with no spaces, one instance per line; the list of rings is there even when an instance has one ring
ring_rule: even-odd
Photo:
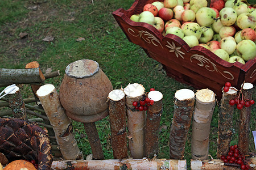
[[[218,139],[217,139],[217,158],[221,155],[228,155],[230,141],[233,129],[233,112],[234,105],[230,105],[229,101],[235,99],[237,91],[229,88],[228,92],[222,93],[221,103],[218,112]]]

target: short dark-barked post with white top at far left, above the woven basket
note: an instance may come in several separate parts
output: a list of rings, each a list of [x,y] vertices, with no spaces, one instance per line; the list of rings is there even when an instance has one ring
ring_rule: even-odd
[[[7,89],[5,92],[7,93],[8,90],[9,89]],[[15,86],[15,89],[5,97],[9,101],[9,106],[11,108],[11,111],[13,111],[14,117],[22,118],[23,120],[25,120],[27,116],[26,108],[23,98],[20,95],[19,87]]]

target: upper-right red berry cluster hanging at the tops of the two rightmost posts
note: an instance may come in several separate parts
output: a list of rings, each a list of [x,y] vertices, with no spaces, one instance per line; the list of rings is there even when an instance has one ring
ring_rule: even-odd
[[[224,92],[228,92],[229,88],[231,87],[231,83],[226,82],[225,86],[223,88]],[[233,90],[235,90],[235,88],[232,88]],[[235,105],[237,104],[237,109],[242,109],[243,106],[245,107],[250,107],[250,105],[253,105],[255,103],[254,100],[249,100],[246,99],[243,94],[242,94],[242,90],[238,90],[238,96],[235,99],[232,99],[229,101],[230,105]]]

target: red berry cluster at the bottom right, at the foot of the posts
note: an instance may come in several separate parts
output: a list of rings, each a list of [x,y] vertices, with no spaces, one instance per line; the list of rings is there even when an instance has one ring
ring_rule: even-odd
[[[241,169],[250,169],[249,164],[247,164],[245,161],[245,155],[243,155],[242,152],[238,150],[237,145],[230,146],[228,155],[222,155],[221,160],[223,160],[224,163],[238,164],[240,165]]]

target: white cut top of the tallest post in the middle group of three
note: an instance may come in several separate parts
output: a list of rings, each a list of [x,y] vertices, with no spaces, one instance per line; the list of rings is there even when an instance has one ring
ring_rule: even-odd
[[[133,83],[126,86],[123,90],[128,97],[138,97],[144,94],[145,88],[142,84]]]

